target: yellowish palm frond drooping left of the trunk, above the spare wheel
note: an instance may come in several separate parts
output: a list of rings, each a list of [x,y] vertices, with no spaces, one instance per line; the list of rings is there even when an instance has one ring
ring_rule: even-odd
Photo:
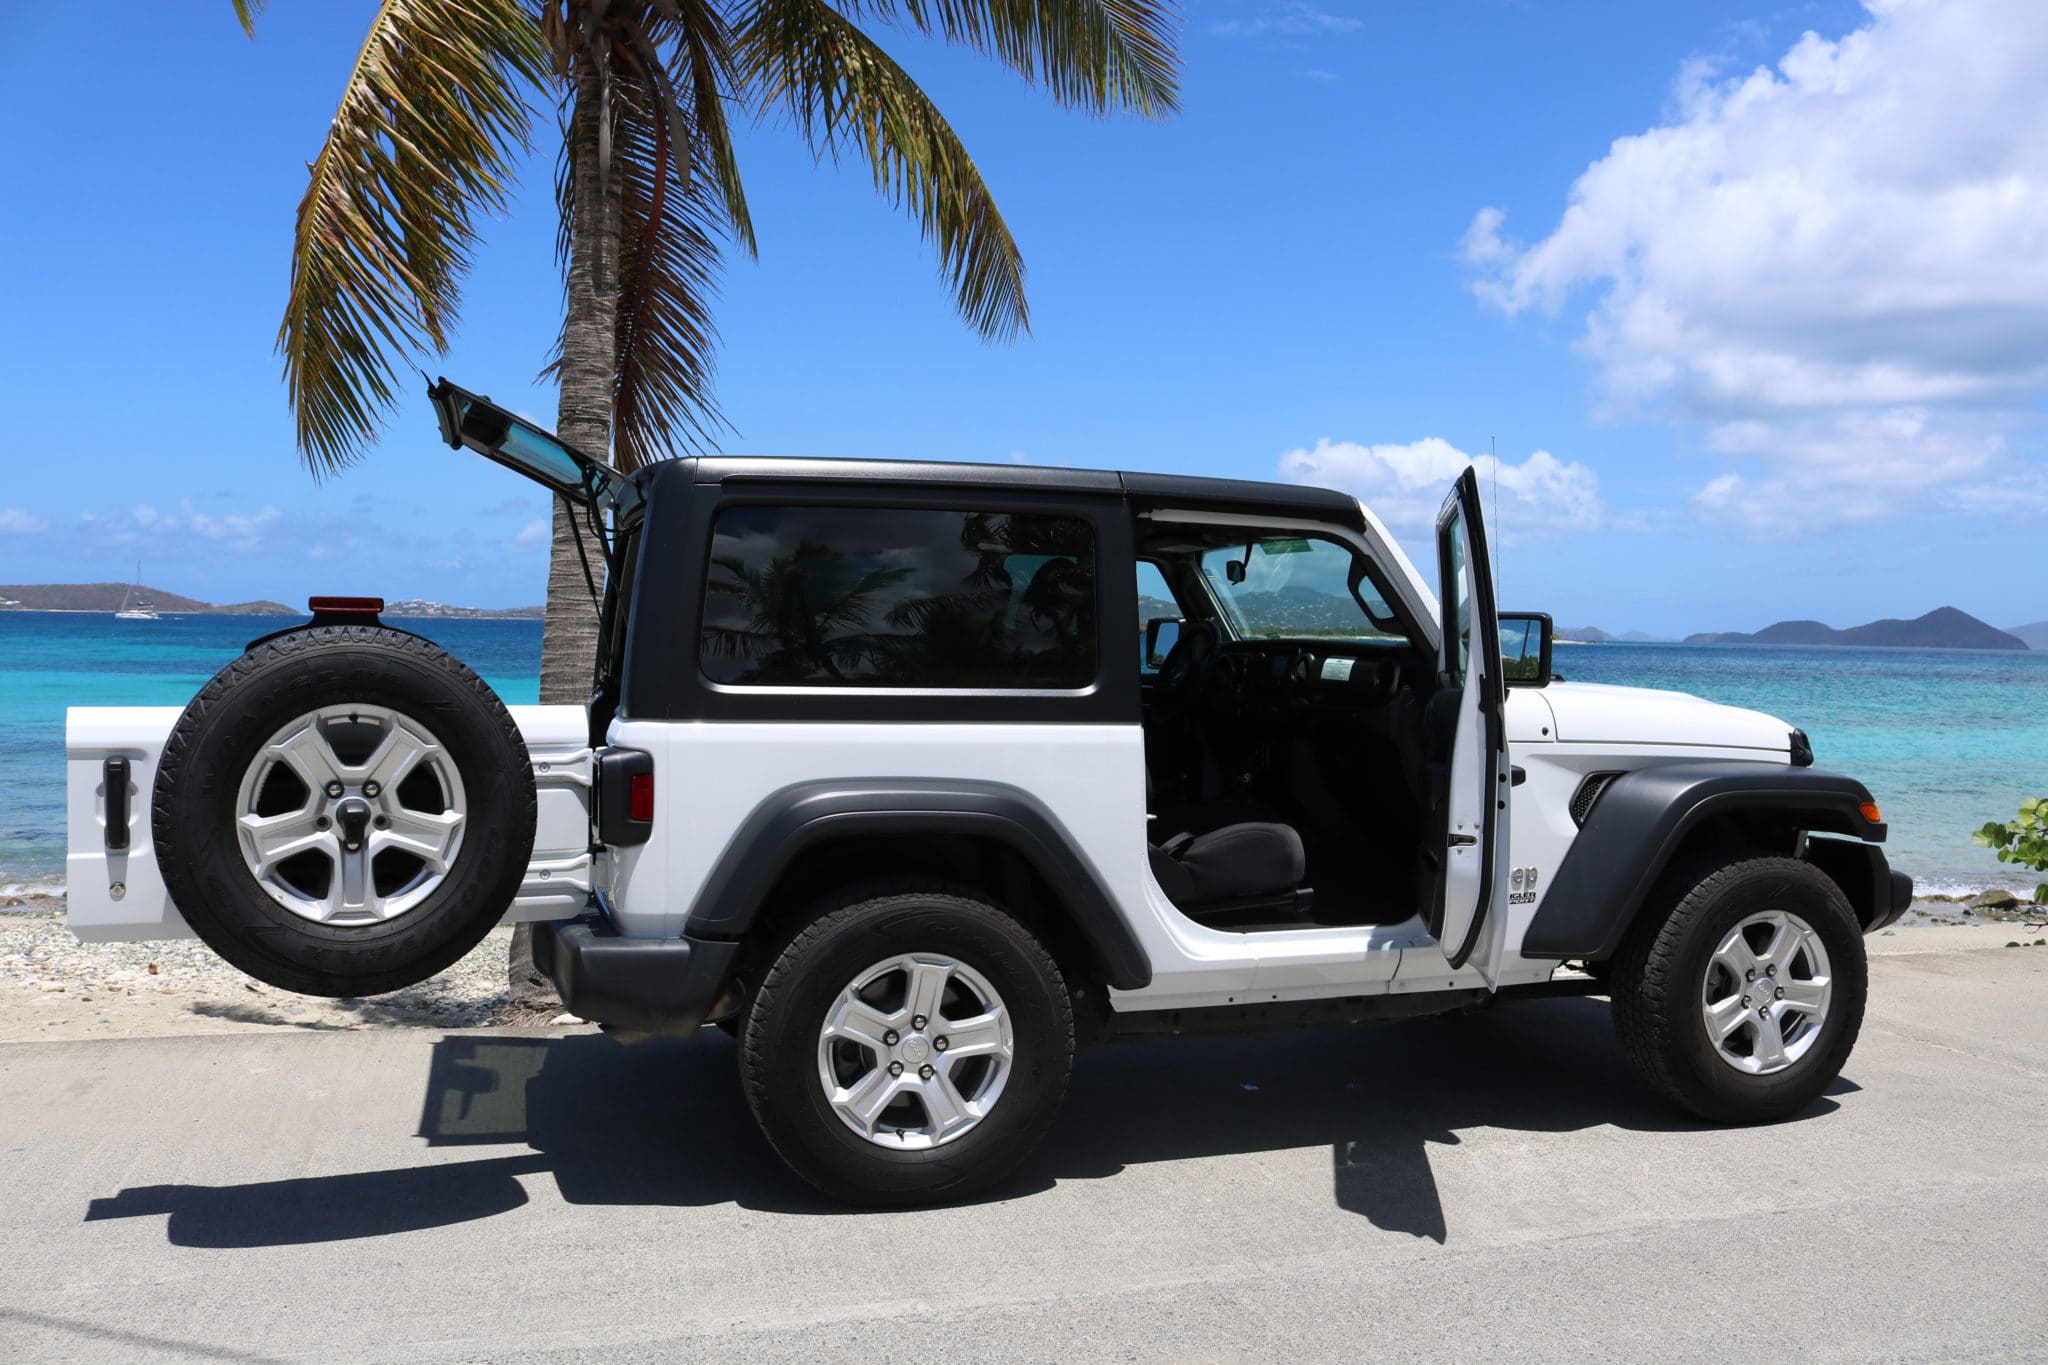
[[[250,23],[262,0],[238,0]],[[395,358],[446,348],[479,213],[526,145],[549,53],[524,0],[385,0],[311,164],[279,327],[299,450],[352,460],[391,405]]]

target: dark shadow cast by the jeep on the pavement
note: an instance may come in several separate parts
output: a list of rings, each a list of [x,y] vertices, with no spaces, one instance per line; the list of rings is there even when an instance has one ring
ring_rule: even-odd
[[[1831,1095],[1853,1091],[1837,1081]],[[1802,1117],[1833,1111],[1819,1101]],[[1509,1003],[1378,1027],[1116,1044],[1079,1054],[1044,1146],[989,1197],[1124,1166],[1323,1146],[1339,1207],[1444,1242],[1430,1144],[1460,1128],[1696,1128],[1628,1070],[1597,1001]],[[430,1148],[528,1150],[252,1185],[150,1185],[94,1199],[86,1222],[168,1214],[178,1246],[289,1246],[440,1228],[526,1203],[553,1177],[588,1205],[854,1214],[768,1150],[733,1044],[705,1031],[623,1048],[594,1033],[449,1033],[434,1046],[420,1136]]]

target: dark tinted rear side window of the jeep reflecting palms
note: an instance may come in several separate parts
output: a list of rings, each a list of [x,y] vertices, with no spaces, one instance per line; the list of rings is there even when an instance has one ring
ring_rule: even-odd
[[[698,653],[715,684],[1085,688],[1094,528],[1024,512],[727,508]]]

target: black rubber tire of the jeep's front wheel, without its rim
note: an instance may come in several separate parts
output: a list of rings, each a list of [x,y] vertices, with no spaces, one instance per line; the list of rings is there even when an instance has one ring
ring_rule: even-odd
[[[1747,1074],[1720,1058],[1700,1011],[1722,935],[1761,909],[1804,919],[1827,950],[1833,995],[1812,1046],[1788,1068]],[[1614,1025],[1636,1072],[1714,1124],[1763,1124],[1806,1109],[1841,1074],[1864,1023],[1864,933],[1835,882],[1812,864],[1759,853],[1694,860],[1663,878],[1614,960]]]

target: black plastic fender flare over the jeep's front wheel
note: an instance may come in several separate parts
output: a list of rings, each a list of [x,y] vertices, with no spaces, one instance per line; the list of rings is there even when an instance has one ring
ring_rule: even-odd
[[[1688,759],[1626,772],[1599,794],[1565,851],[1522,935],[1522,956],[1612,958],[1657,878],[1702,821],[1780,814],[1792,829],[1882,843],[1884,825],[1864,814],[1866,802],[1870,790],[1862,782],[1819,767]],[[1870,853],[1884,857],[1878,849]],[[1882,884],[1888,888],[1888,878]]]

